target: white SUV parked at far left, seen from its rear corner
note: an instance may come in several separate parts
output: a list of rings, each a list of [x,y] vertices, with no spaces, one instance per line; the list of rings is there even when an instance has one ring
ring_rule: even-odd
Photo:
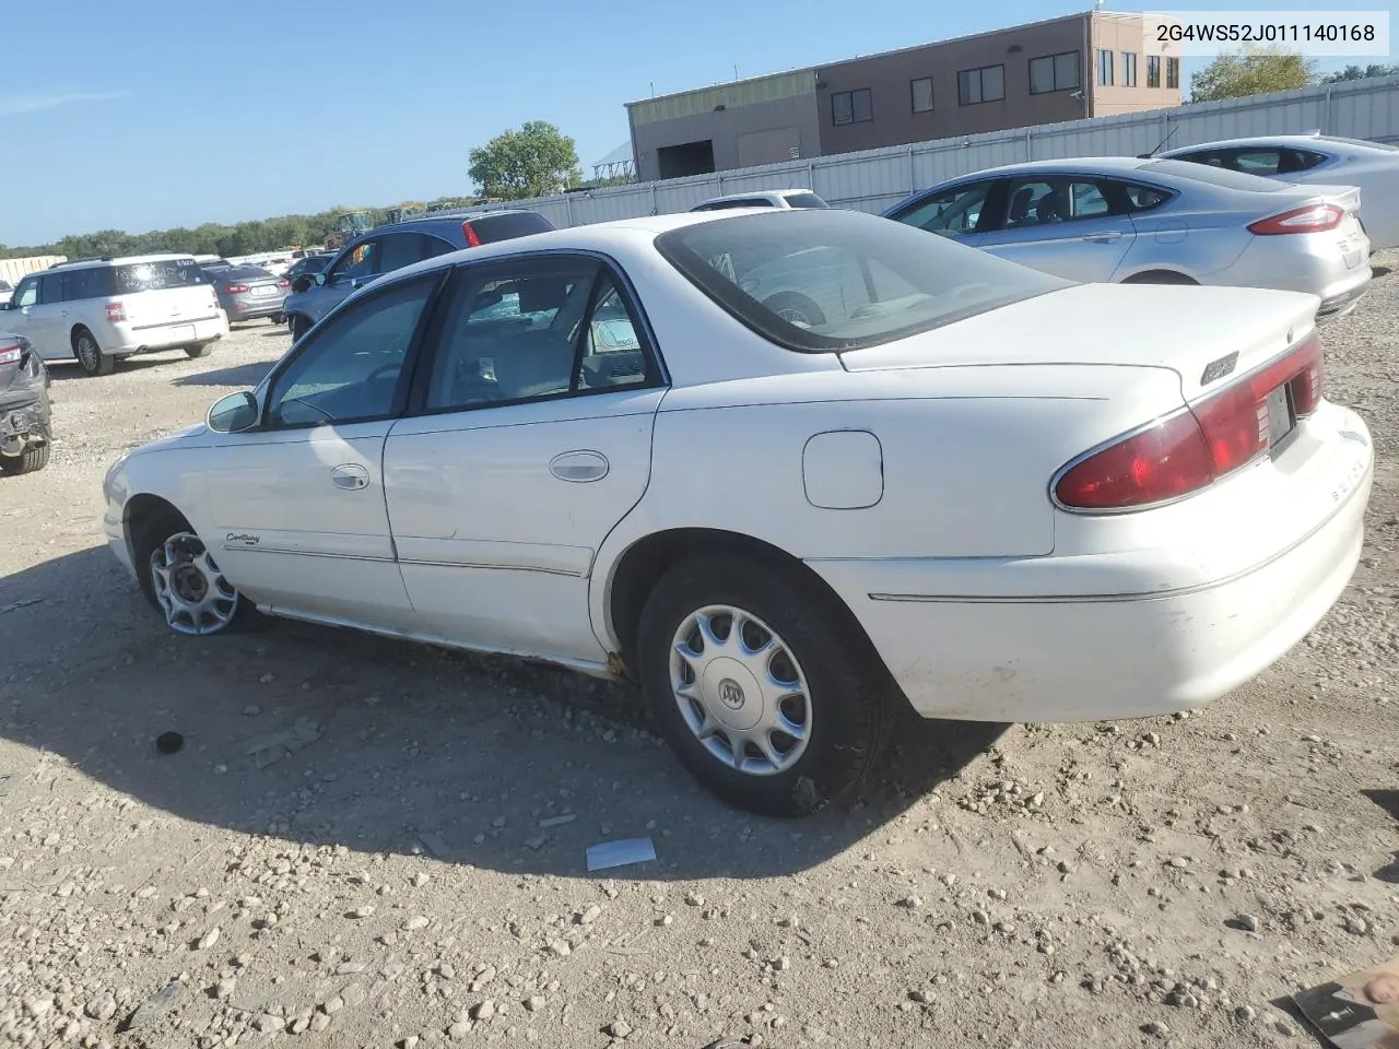
[[[140,255],[57,263],[31,273],[0,305],[0,327],[45,361],[111,375],[132,354],[206,357],[228,334],[218,295],[193,256]]]

